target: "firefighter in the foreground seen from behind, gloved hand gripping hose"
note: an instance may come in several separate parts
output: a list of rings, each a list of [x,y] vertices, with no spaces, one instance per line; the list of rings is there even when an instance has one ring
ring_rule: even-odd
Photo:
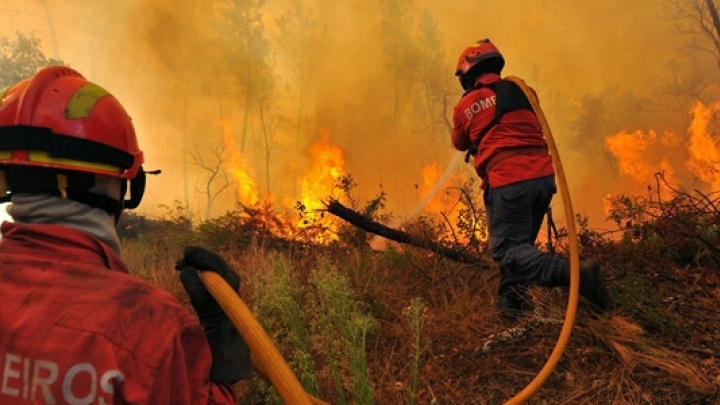
[[[142,199],[143,153],[115,97],[62,66],[0,100],[0,403],[235,404],[250,354],[200,284],[218,255],[187,247],[176,268],[195,317],[128,274],[115,226]],[[126,198],[128,197],[128,198]]]

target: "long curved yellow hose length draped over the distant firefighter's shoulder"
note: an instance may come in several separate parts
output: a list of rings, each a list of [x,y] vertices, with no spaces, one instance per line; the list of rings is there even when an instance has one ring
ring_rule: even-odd
[[[565,171],[560,161],[560,154],[558,153],[555,140],[553,139],[550,126],[545,119],[545,114],[540,108],[540,103],[535,96],[535,93],[525,84],[525,81],[518,77],[508,76],[505,80],[511,81],[520,87],[525,93],[525,96],[530,101],[535,115],[540,121],[545,139],[550,148],[550,154],[553,158],[553,164],[555,166],[555,174],[560,188],[560,195],[562,196],[563,208],[565,208],[565,218],[567,218],[567,229],[568,229],[568,243],[570,245],[570,294],[568,298],[568,307],[565,313],[565,320],[563,322],[562,330],[560,331],[560,337],[555,344],[555,349],[550,354],[545,366],[538,372],[535,378],[517,395],[512,397],[506,402],[506,404],[522,404],[527,401],[537,390],[545,384],[545,381],[550,377],[550,374],[555,369],[555,366],[560,361],[567,342],[570,339],[573,325],[575,324],[575,313],[577,312],[578,298],[580,293],[580,246],[577,238],[577,231],[575,229],[575,214],[573,214],[572,202],[570,201],[570,193],[568,192],[567,180],[565,178]]]

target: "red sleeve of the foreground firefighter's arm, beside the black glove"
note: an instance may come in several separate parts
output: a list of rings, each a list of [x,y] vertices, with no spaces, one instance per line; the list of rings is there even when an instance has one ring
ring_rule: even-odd
[[[233,384],[210,381],[212,357],[202,327],[187,325],[158,367],[152,404],[235,405]]]

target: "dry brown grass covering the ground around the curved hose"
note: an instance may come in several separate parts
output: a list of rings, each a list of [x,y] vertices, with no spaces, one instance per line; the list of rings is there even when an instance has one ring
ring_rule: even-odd
[[[180,254],[180,250],[174,249],[179,248],[167,243],[128,242],[125,258],[133,269],[150,265],[153,270],[137,273],[187,303],[172,270],[172,264]],[[252,297],[256,293],[253,291],[254,280],[268,268],[268,248],[251,244],[223,254],[241,274],[243,295],[252,306]],[[308,246],[279,254],[292,263],[297,278],[303,283],[307,283],[319,259],[332,263],[348,277],[357,296],[379,322],[379,328],[367,342],[368,368],[376,404],[404,404],[410,398],[414,335],[405,309],[415,298],[421,298],[424,304],[416,398],[419,404],[505,402],[542,368],[560,332],[559,320],[563,318],[567,299],[565,292],[532,290],[535,311],[529,311],[515,323],[504,323],[495,309],[497,275],[492,269],[458,265],[414,250],[372,252]],[[619,265],[611,260],[605,259],[610,289],[614,296],[622,298],[629,287],[622,275],[615,274]],[[706,271],[712,273],[714,270]],[[667,284],[662,284],[663,280],[652,280],[655,286],[652,291],[657,295],[629,300],[635,306],[635,312],[628,306],[619,305],[613,314],[598,317],[581,304],[562,360],[528,403],[720,403],[720,360],[716,355],[720,352],[718,323],[709,324],[720,318],[717,316],[720,308],[717,287],[708,284],[711,288],[700,288],[702,285],[695,278],[692,282],[685,281],[666,280]],[[714,279],[707,282],[714,282]],[[694,289],[700,292],[693,293]],[[645,307],[648,302],[662,304],[668,296],[678,294],[684,298],[675,306]],[[689,311],[687,316],[677,316],[676,311],[683,303],[693,303],[707,311]],[[640,310],[642,312],[638,312]],[[645,317],[638,321],[634,318],[639,316],[637,314]],[[660,325],[672,324],[667,333],[646,331],[641,323],[648,322],[648,314],[663,319],[664,323]],[[544,322],[538,322],[539,317]],[[486,352],[478,352],[492,335],[533,323],[534,327],[522,335]],[[292,352],[289,347],[281,346],[280,349],[283,353]],[[319,353],[316,355],[321,358]],[[326,366],[316,361],[319,396],[334,402],[337,397]],[[254,382],[239,385],[241,393],[258,389]],[[351,392],[348,395],[352,398]],[[257,392],[253,393],[253,398],[258,398]],[[271,396],[264,398],[268,399],[261,403],[274,403],[269,399]]]

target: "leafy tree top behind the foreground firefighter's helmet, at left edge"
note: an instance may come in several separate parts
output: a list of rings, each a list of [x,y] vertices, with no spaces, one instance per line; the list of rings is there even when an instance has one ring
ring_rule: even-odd
[[[17,32],[14,39],[0,38],[0,88],[26,79],[39,68],[64,65],[59,59],[48,58],[40,49],[40,39],[34,34]]]

